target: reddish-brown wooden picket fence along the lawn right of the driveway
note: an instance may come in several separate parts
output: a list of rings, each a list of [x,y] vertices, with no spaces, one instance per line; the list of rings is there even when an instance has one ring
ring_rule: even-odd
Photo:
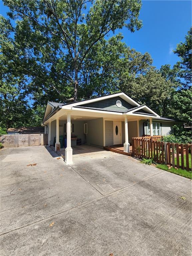
[[[192,144],[132,138],[132,155],[139,158],[154,158],[154,161],[158,164],[166,164],[191,171],[191,167],[189,166],[189,157],[192,156],[191,153]]]

